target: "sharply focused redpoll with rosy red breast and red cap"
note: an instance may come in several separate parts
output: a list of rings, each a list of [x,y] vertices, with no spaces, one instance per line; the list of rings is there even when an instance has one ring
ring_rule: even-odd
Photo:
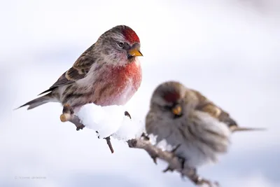
[[[76,113],[88,103],[124,105],[141,84],[142,71],[137,56],[142,56],[137,34],[125,25],[113,27],[40,95],[48,94],[22,106],[34,109],[48,102],[60,102],[71,106]]]

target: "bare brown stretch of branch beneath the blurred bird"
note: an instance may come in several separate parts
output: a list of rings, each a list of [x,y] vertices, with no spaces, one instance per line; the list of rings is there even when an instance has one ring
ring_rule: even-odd
[[[153,146],[147,139],[130,139],[127,141],[130,148],[144,149],[153,158],[156,163],[156,158],[165,160],[169,166],[163,172],[174,171],[179,172],[181,176],[186,176],[190,181],[193,181],[196,186],[207,184],[208,186],[219,186],[217,182],[211,182],[207,179],[203,179],[196,172],[196,169],[190,167],[182,167],[181,159],[176,157],[173,152],[162,151],[160,148]]]

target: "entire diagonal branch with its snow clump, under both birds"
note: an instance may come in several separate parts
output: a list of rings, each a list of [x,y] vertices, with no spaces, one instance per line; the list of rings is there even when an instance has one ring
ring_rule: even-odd
[[[144,134],[143,123],[140,124],[139,121],[132,120],[130,113],[125,111],[122,106],[102,107],[95,104],[87,104],[77,114],[73,113],[71,107],[66,106],[60,119],[62,122],[69,121],[76,125],[76,130],[83,129],[83,127],[94,130],[97,132],[98,138],[106,139],[111,153],[114,152],[111,137],[124,140],[130,148],[144,149],[151,155],[155,164],[157,158],[165,160],[169,166],[163,172],[173,172],[175,170],[182,177],[186,176],[190,181],[193,181],[196,186],[218,186],[217,182],[211,182],[199,176],[196,169],[186,167],[183,160],[174,155],[176,148],[169,152],[162,151],[161,148],[153,145],[150,138]]]

